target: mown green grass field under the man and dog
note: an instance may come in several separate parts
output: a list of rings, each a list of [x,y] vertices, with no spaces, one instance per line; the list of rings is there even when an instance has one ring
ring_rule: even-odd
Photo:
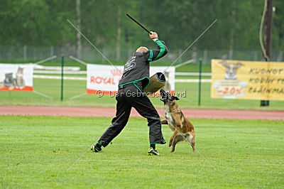
[[[131,118],[103,148],[87,153],[111,118],[0,116],[1,188],[284,188],[283,121],[192,119],[198,150],[147,156],[146,120]],[[163,126],[168,141],[172,131]]]

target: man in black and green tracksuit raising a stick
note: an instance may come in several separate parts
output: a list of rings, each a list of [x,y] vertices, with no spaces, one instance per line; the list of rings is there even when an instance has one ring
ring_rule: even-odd
[[[126,126],[134,107],[141,116],[148,120],[150,149],[149,155],[160,155],[155,150],[155,144],[165,144],[161,131],[160,117],[153,107],[150,99],[143,93],[150,82],[150,62],[162,58],[168,53],[165,42],[158,40],[158,34],[151,32],[150,38],[157,44],[157,50],[148,50],[140,47],[124,65],[124,73],[119,81],[119,90],[116,95],[116,117],[112,119],[111,126],[99,138],[92,151],[99,152],[102,146],[106,147]]]

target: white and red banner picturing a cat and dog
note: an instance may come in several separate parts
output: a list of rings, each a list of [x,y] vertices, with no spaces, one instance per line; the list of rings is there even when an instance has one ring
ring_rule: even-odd
[[[0,64],[0,90],[33,91],[33,64]]]

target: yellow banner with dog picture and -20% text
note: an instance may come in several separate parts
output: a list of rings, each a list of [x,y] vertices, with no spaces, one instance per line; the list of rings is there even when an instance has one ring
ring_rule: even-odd
[[[284,100],[284,63],[212,60],[211,97]]]

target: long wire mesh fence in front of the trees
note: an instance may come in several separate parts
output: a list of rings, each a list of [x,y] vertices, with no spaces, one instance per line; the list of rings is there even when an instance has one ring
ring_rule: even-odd
[[[135,48],[121,48],[120,58],[126,60]],[[116,60],[116,50],[113,48],[99,48],[99,50],[109,60]],[[163,62],[173,62],[182,55],[184,49],[169,50],[168,55],[163,58]],[[76,47],[74,45],[65,45],[62,47],[41,47],[28,45],[0,45],[0,61],[35,61],[47,58],[53,55],[75,56]],[[187,50],[176,62],[182,63],[186,60],[202,58],[203,63],[209,63],[211,59],[230,59],[230,60],[263,60],[261,50]],[[90,46],[83,46],[81,59],[89,62],[102,61],[107,62],[97,50]],[[274,50],[271,53],[271,61],[283,61],[284,52]]]

